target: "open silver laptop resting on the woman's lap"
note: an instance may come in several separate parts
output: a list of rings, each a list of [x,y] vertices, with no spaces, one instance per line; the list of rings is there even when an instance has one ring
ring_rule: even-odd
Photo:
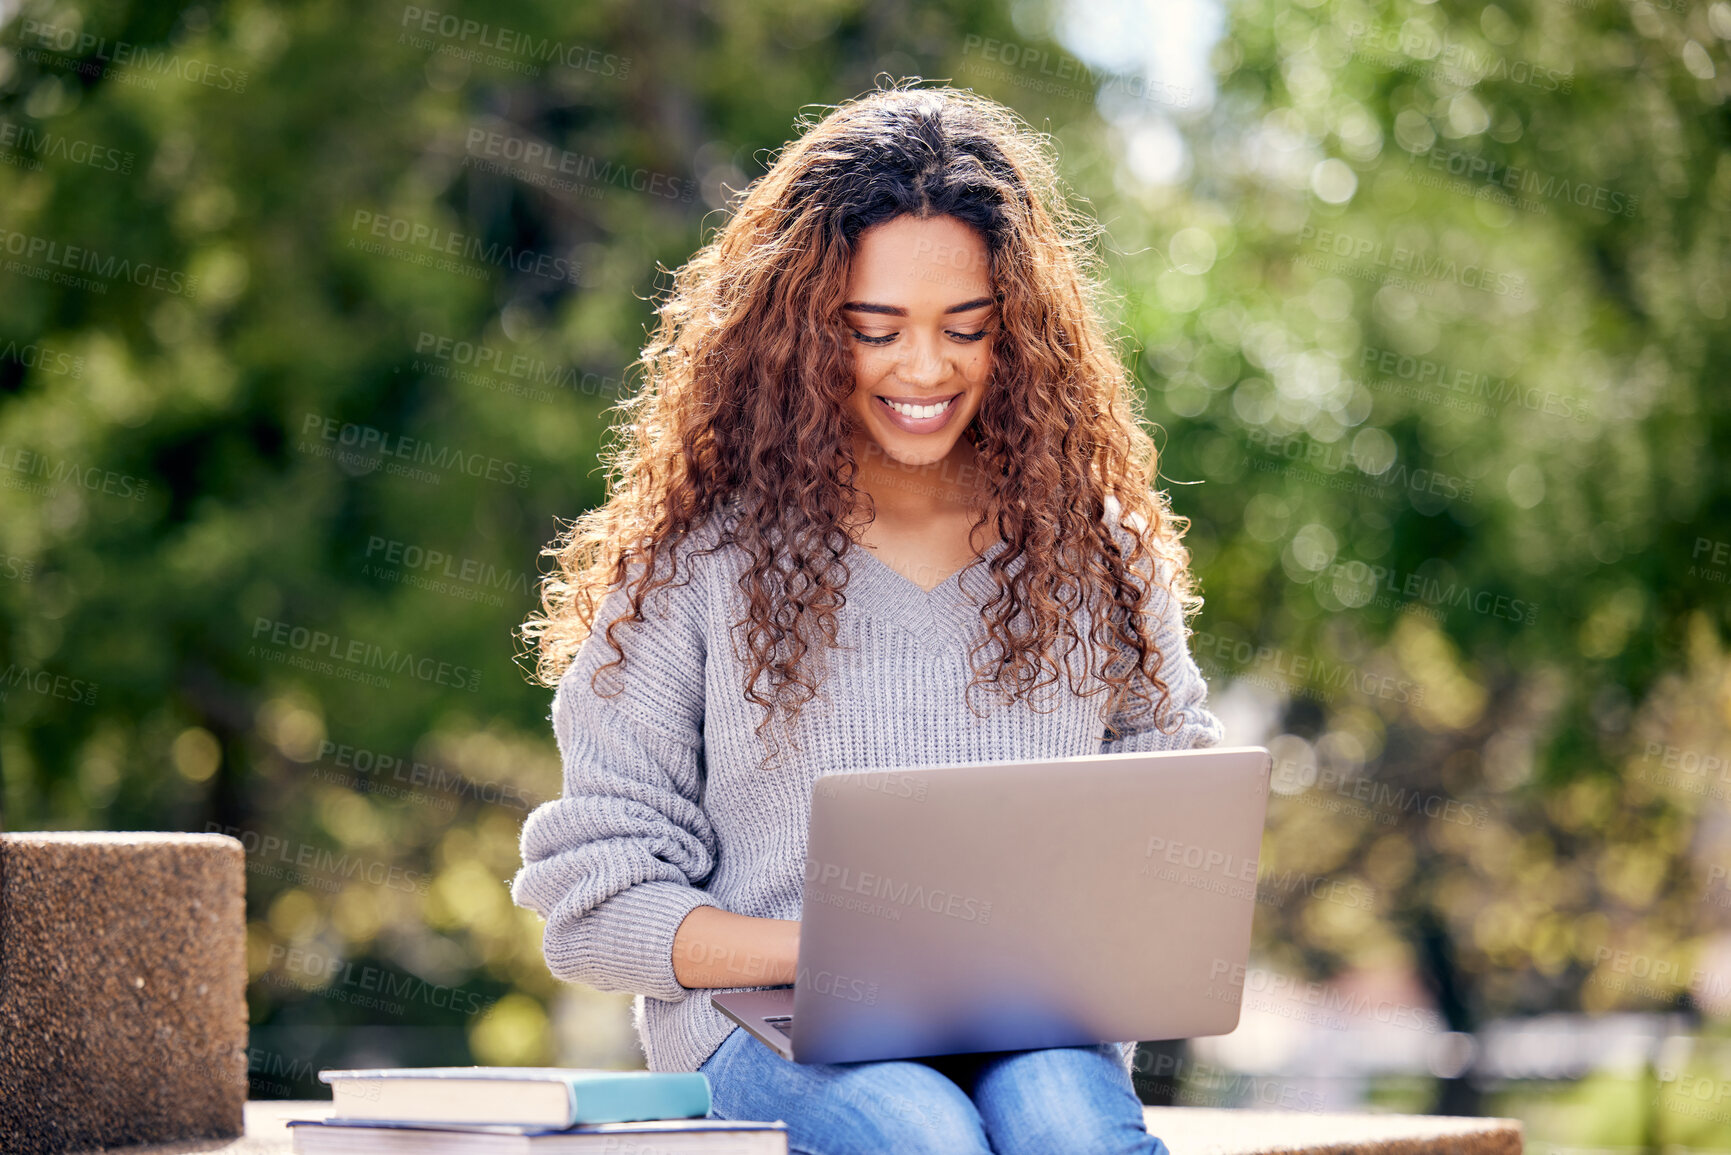
[[[1260,746],[827,774],[791,987],[713,1004],[801,1063],[1238,1027]]]

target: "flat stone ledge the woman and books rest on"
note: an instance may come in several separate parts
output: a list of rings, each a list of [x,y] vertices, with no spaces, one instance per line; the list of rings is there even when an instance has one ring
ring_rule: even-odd
[[[130,1146],[126,1155],[291,1155],[287,1120],[324,1119],[329,1101],[254,1101],[246,1134],[228,1141]],[[1312,1115],[1213,1107],[1144,1107],[1172,1155],[1520,1155],[1513,1119]],[[111,1148],[113,1150],[113,1148]]]

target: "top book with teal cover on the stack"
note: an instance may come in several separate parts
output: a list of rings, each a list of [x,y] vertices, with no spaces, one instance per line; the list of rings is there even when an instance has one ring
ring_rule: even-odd
[[[336,1119],[540,1124],[698,1119],[710,1113],[701,1072],[566,1067],[386,1067],[322,1070]]]

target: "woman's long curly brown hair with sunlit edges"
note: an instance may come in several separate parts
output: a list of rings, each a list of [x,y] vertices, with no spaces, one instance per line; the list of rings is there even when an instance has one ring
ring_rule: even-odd
[[[1028,696],[1052,684],[1049,653],[1059,639],[1080,642],[1071,616],[1085,601],[1089,639],[1116,655],[1101,675],[1111,689],[1103,719],[1137,670],[1165,707],[1165,656],[1146,606],[1155,587],[1186,618],[1201,604],[1182,545],[1187,521],[1151,487],[1155,443],[1101,320],[1097,225],[1068,206],[1051,142],[994,100],[917,81],[881,87],[798,128],[658,303],[660,324],[634,365],[642,388],[616,407],[627,416],[623,438],[602,450],[611,497],[544,551],[556,570],[519,630],[537,677],[557,686],[602,599],[640,563],[630,611],[606,627],[618,653],[609,667],[620,665],[615,627],[644,622],[644,597],[677,577],[677,561],[663,573],[660,556],[734,507],[741,516],[729,518],[715,549],[730,542],[750,554],[741,625],[746,698],[763,708],[758,734],[777,707],[791,722],[817,694],[805,658],[819,634],[836,644],[848,518],[860,502],[840,312],[848,261],[864,230],[912,213],[975,227],[1001,301],[992,377],[968,433],[990,490],[975,526],[994,516],[1006,549],[988,563],[997,592],[983,606],[988,637],[969,655],[968,689],[985,681],[975,660],[987,644],[997,655],[994,687],[1007,682]],[[1122,530],[1106,525],[1111,499],[1134,528],[1129,554]],[[1156,565],[1142,566],[1149,554]],[[1141,582],[1142,571],[1151,580]],[[1097,592],[1110,611],[1099,611]],[[1018,618],[1028,627],[1013,632]],[[1125,653],[1136,655],[1132,668]],[[767,694],[758,687],[765,672]]]

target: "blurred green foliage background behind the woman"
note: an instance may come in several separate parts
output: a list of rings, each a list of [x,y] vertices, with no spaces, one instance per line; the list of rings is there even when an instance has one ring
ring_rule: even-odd
[[[1229,0],[1212,94],[1075,57],[1082,5],[429,10],[0,7],[0,803],[251,836],[254,1094],[637,1061],[505,894],[557,791],[511,630],[661,270],[879,71],[1016,107],[1104,225],[1198,655],[1277,755],[1258,959],[1454,1030],[1731,1011],[1731,5]]]

